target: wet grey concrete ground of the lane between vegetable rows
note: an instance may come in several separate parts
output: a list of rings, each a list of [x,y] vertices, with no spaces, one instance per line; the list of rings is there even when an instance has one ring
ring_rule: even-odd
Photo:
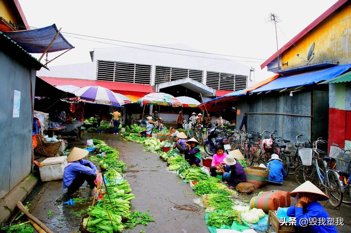
[[[91,138],[91,133],[84,134],[84,142]],[[135,211],[146,212],[153,215],[155,222],[150,222],[148,226],[138,225],[134,229],[127,229],[126,232],[208,232],[205,225],[202,208],[199,214],[185,210],[172,210],[173,203],[178,205],[195,205],[193,199],[198,198],[193,194],[188,184],[182,184],[181,178],[176,174],[167,173],[166,163],[161,160],[158,154],[144,152],[146,148],[134,142],[124,142],[120,135],[109,133],[94,134],[94,138],[105,141],[109,146],[117,149],[120,160],[123,160],[130,169],[124,174],[131,185],[135,199],[132,200],[132,208]],[[84,145],[76,145],[84,146]],[[282,186],[266,185],[257,189],[251,195],[241,195],[239,199],[250,200],[260,191],[284,190],[292,191],[298,184],[293,176],[289,176]],[[80,192],[74,197],[84,200],[83,203],[75,206],[62,206],[62,202],[69,200],[66,190],[62,190],[62,181],[51,181],[38,185],[26,201],[32,205],[29,211],[53,232],[75,232],[79,229],[80,217],[84,210],[91,205],[89,187],[83,185]],[[170,201],[173,203],[171,203]],[[294,204],[294,200],[291,199]],[[325,203],[322,203],[324,205]],[[329,204],[326,207],[331,207]],[[150,212],[148,212],[150,210]],[[351,232],[351,222],[347,222],[350,216],[350,206],[342,204],[340,209],[325,209],[330,217],[343,217],[344,226],[338,226],[341,233]],[[49,211],[49,212],[48,212]]]

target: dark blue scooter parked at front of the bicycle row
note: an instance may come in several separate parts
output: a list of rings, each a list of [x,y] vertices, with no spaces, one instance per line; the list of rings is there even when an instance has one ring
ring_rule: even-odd
[[[212,128],[208,129],[208,136],[204,144],[205,152],[208,155],[214,155],[216,152],[217,145],[223,145],[225,153],[229,153],[231,151],[231,147],[229,144],[228,137],[218,137],[217,128],[219,126],[213,126]]]

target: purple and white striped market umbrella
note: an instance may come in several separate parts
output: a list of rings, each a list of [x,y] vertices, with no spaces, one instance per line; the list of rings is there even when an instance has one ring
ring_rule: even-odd
[[[124,104],[124,101],[119,96],[115,95],[113,91],[100,86],[82,87],[72,93],[80,97],[81,100],[91,101],[93,103],[111,104],[115,106]]]

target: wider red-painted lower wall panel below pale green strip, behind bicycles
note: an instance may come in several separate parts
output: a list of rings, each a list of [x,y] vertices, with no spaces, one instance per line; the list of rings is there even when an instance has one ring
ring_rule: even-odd
[[[331,145],[333,145],[333,142],[335,142],[341,147],[345,146],[345,131],[346,131],[345,129],[346,129],[346,111],[341,109],[329,108],[329,139],[328,139],[329,146],[328,148]]]

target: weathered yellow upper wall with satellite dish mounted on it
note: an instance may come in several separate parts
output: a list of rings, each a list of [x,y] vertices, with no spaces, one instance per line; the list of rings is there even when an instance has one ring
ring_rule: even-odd
[[[292,46],[283,53],[282,61],[288,62],[288,65],[283,65],[282,69],[305,65],[296,54],[299,53],[306,60],[312,42],[315,43],[315,55],[310,64],[324,60],[339,61],[339,64],[351,63],[351,3],[347,2],[339,9],[295,43],[303,52]]]

